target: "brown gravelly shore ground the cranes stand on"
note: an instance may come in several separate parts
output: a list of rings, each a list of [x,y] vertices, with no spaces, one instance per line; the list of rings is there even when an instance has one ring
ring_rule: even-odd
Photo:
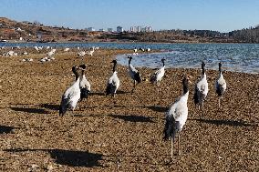
[[[61,52],[61,51],[60,51]],[[204,116],[194,108],[193,85],[200,70],[167,69],[158,93],[143,82],[133,95],[127,67],[119,66],[118,96],[103,95],[111,58],[124,50],[98,50],[87,56],[92,95],[74,116],[58,116],[64,91],[74,81],[75,52],[0,57],[0,170],[2,171],[259,171],[259,76],[225,72],[228,88],[218,109],[207,71],[209,94]],[[111,57],[109,57],[109,55]],[[133,59],[134,60],[134,59]],[[142,76],[151,69],[140,68]],[[164,112],[181,96],[181,77],[192,76],[189,117],[181,132],[181,156],[171,161],[171,143],[162,140]]]

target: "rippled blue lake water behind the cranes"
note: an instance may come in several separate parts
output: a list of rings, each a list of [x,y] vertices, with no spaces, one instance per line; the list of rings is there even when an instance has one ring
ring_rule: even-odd
[[[146,44],[146,43],[0,43],[0,46],[57,46],[133,49],[148,47],[161,53],[133,56],[133,66],[160,67],[161,58],[166,58],[167,67],[200,68],[202,60],[206,68],[259,74],[259,44]],[[119,64],[128,65],[127,55],[117,56]]]

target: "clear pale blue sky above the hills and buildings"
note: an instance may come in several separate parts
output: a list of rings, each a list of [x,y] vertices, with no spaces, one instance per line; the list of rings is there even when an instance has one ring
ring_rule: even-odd
[[[78,29],[141,25],[230,32],[259,25],[259,0],[0,0],[0,16]]]

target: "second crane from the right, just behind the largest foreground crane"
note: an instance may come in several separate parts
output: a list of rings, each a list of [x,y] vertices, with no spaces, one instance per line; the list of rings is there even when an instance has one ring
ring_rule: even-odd
[[[202,110],[203,110],[203,103],[209,92],[207,76],[205,74],[204,66],[205,66],[205,63],[202,62],[202,78],[198,80],[195,86],[194,96],[193,96],[194,104],[195,105],[198,104],[199,110],[200,110],[200,106],[202,106]]]

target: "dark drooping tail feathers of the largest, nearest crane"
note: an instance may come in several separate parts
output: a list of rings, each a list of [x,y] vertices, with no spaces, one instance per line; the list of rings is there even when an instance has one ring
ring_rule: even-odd
[[[180,122],[175,121],[172,116],[166,117],[166,123],[163,130],[164,133],[164,140],[168,140],[170,137],[173,139],[176,137],[176,134],[180,131]]]

